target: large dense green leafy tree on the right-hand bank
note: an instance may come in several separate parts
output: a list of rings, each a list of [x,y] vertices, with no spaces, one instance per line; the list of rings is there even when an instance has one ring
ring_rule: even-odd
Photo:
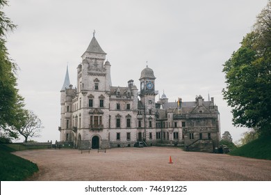
[[[251,33],[224,63],[224,100],[233,125],[271,134],[271,1],[258,15]]]

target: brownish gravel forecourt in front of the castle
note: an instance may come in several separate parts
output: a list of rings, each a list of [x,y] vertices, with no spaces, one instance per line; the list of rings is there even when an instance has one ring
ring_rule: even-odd
[[[235,181],[271,180],[271,161],[179,148],[112,148],[90,150],[48,149],[14,153],[39,166],[35,181]],[[172,164],[169,164],[170,157]]]

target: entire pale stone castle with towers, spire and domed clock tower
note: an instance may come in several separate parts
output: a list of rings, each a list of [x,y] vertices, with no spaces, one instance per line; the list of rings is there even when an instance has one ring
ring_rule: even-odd
[[[156,77],[149,67],[141,72],[140,90],[132,79],[127,86],[112,86],[111,65],[104,62],[106,53],[95,35],[81,58],[76,87],[67,70],[60,91],[60,141],[75,148],[133,147],[137,141],[210,153],[218,147],[220,116],[214,98],[168,102],[163,93],[156,102]]]

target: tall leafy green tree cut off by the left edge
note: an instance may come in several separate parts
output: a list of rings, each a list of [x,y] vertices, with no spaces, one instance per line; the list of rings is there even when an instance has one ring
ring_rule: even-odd
[[[17,138],[17,132],[10,128],[18,124],[16,117],[24,107],[24,98],[19,95],[17,86],[17,65],[8,57],[6,33],[15,29],[8,17],[1,11],[7,6],[6,0],[0,0],[0,132],[11,138]]]

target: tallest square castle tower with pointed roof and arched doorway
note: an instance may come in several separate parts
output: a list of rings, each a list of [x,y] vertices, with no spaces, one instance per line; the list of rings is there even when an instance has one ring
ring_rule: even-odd
[[[93,34],[77,68],[78,107],[76,145],[81,148],[108,146],[110,63]]]

